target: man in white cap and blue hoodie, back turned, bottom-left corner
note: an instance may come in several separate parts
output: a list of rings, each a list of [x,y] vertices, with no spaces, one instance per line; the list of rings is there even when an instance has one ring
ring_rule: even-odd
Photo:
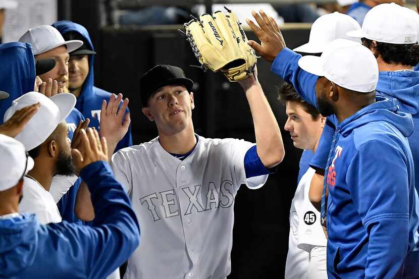
[[[19,214],[22,177],[34,161],[22,143],[0,135],[0,278],[103,279],[138,246],[138,222],[106,162],[106,140],[90,128],[81,134],[82,148],[72,152],[92,193],[92,226],[39,225],[34,214]]]

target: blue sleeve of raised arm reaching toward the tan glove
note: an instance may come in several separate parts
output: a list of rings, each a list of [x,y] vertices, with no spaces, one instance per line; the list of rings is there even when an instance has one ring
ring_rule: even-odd
[[[316,82],[319,76],[310,74],[298,66],[301,55],[289,48],[284,48],[272,63],[271,71],[285,82],[292,84],[296,92],[306,102],[317,107]]]

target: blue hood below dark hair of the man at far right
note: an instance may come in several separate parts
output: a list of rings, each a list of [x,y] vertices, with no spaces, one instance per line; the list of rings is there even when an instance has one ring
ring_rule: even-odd
[[[396,98],[405,113],[419,114],[419,72],[380,72],[376,94]]]

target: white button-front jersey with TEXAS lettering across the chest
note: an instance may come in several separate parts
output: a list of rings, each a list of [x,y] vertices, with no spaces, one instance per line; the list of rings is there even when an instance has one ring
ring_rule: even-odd
[[[198,137],[182,161],[155,138],[113,155],[141,234],[125,279],[221,279],[230,273],[234,197],[241,184],[258,188],[268,178],[246,181],[244,156],[252,145]]]

